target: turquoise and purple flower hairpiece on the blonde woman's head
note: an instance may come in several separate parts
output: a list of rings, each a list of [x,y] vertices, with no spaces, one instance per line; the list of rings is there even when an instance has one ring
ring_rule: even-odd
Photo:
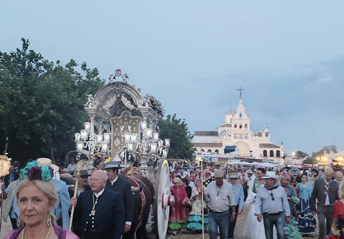
[[[28,162],[25,168],[20,170],[20,179],[30,179],[30,180],[43,180],[48,181],[54,177],[54,171],[51,167],[43,165],[41,167],[38,166],[36,160]]]

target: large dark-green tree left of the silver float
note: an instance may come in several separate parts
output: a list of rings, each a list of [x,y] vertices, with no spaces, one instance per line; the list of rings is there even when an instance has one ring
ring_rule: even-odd
[[[8,136],[14,159],[63,159],[87,119],[85,94],[94,94],[105,81],[85,62],[79,72],[73,59],[54,64],[29,50],[28,40],[22,42],[21,49],[0,52],[0,150]]]

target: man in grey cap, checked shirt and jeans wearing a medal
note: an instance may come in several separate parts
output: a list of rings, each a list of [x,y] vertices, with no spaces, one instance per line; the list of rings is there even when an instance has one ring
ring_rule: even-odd
[[[217,227],[220,229],[220,239],[228,239],[228,227],[230,218],[236,218],[235,198],[232,187],[224,182],[225,172],[216,170],[215,181],[208,184],[204,190],[205,200],[209,207],[209,238],[217,238]],[[230,215],[229,207],[232,207]]]

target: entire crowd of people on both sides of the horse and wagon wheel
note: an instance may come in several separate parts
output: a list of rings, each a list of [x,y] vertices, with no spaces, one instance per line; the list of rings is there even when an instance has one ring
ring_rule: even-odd
[[[2,219],[10,219],[14,238],[132,238],[134,219],[131,185],[109,161],[103,170],[80,171],[50,159],[30,161],[4,177]],[[311,176],[318,179],[310,182]],[[168,232],[202,230],[210,239],[234,238],[237,217],[247,205],[243,238],[344,238],[342,170],[298,168],[200,167],[170,165],[171,194]],[[92,198],[91,198],[92,197]],[[72,231],[68,231],[73,212]],[[316,221],[316,216],[318,220]]]

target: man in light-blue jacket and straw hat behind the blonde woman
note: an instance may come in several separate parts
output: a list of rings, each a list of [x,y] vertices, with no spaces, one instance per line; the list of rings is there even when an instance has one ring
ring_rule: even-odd
[[[38,166],[49,166],[53,169],[54,173],[58,171],[58,166],[51,163],[51,159],[48,158],[39,158],[37,159]],[[54,184],[55,193],[57,201],[55,203],[55,208],[51,212],[55,215],[56,221],[63,229],[68,230],[69,226],[69,193],[67,184],[61,180],[51,179],[51,182]],[[62,225],[61,225],[61,214],[62,214]]]

